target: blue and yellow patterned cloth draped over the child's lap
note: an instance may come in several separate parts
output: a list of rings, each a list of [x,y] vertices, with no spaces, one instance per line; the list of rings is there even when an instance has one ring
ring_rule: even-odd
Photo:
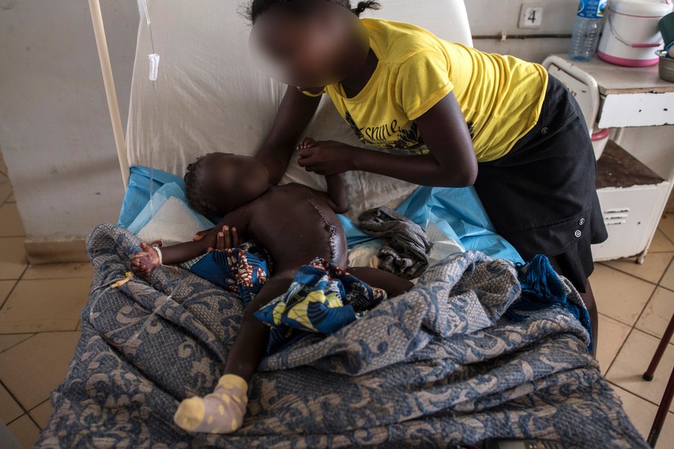
[[[298,341],[307,332],[334,334],[386,299],[336,265],[317,258],[300,267],[288,292],[255,312],[271,327],[267,354]]]

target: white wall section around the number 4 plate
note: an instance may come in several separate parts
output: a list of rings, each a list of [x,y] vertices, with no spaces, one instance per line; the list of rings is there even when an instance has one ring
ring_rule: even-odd
[[[543,5],[541,28],[518,28],[523,0],[465,0],[475,48],[535,62],[568,52],[579,0],[526,1]],[[508,35],[505,42],[502,32]]]

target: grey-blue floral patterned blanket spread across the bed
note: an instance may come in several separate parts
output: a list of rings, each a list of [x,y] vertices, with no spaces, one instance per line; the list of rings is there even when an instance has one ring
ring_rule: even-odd
[[[95,278],[81,338],[39,448],[381,448],[557,439],[568,448],[647,448],[564,307],[505,314],[515,267],[468,252],[330,336],[264,359],[244,426],[223,436],[173,424],[206,394],[238,332],[240,299],[184,269],[124,277],[139,240],[114,225],[88,237]],[[580,298],[570,284],[568,300]]]

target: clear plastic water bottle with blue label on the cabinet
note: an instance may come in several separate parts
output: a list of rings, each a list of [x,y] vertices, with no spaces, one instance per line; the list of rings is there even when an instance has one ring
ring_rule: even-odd
[[[569,46],[569,57],[574,61],[588,62],[595,56],[606,3],[608,0],[580,0]]]

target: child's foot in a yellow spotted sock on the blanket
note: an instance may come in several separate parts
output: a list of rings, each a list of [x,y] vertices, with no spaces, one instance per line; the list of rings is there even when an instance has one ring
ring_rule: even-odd
[[[248,384],[241,377],[225,374],[211,394],[182,401],[173,421],[190,432],[235,432],[246,414],[247,391]]]

